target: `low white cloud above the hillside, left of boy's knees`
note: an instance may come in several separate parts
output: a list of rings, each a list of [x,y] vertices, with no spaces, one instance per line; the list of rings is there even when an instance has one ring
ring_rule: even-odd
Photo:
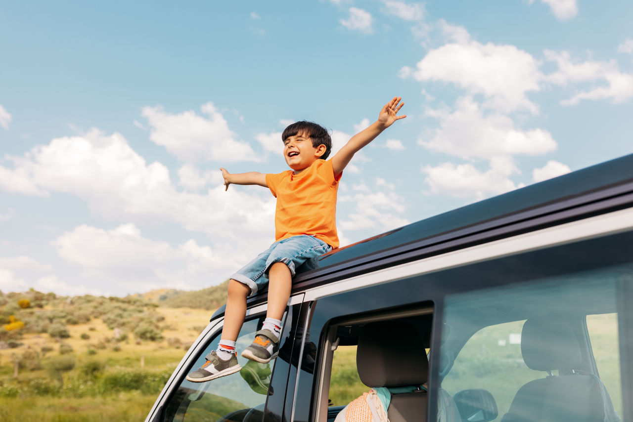
[[[177,247],[142,237],[133,224],[112,230],[81,225],[54,240],[58,254],[80,266],[85,276],[107,280],[130,292],[158,287],[192,289],[222,282],[242,264],[230,254],[187,240]],[[126,288],[127,285],[127,288]]]

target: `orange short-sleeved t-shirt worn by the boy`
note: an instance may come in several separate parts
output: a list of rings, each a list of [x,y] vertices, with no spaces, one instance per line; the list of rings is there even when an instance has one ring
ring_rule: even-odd
[[[341,173],[342,174],[342,173]],[[332,159],[317,159],[295,175],[292,170],[267,174],[268,189],[277,197],[275,241],[296,235],[311,235],[339,247],[336,234],[336,194],[339,177],[334,177]]]

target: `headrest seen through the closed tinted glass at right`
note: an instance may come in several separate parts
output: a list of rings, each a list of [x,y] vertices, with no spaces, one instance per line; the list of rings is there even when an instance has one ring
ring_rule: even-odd
[[[523,325],[523,361],[535,371],[573,369],[582,364],[580,345],[572,326],[560,318],[539,316]]]

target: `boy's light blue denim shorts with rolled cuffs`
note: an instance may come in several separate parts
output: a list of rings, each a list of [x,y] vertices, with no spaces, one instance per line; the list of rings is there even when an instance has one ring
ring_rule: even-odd
[[[308,264],[316,268],[316,259],[331,250],[330,245],[314,236],[292,236],[270,245],[266,251],[261,252],[257,258],[242,267],[231,278],[246,284],[251,288],[250,295],[254,295],[268,285],[268,270],[272,264],[286,264],[294,277],[298,266]]]

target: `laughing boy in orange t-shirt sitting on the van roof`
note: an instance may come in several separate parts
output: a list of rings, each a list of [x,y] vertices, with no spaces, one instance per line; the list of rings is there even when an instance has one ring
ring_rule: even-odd
[[[246,298],[268,285],[268,310],[262,329],[242,356],[267,363],[279,353],[281,318],[290,299],[295,268],[336,249],[336,194],[342,171],[354,154],[396,120],[404,105],[394,97],[380,110],[378,120],[356,133],[334,157],[332,139],[325,128],[298,121],[285,128],[285,162],[292,170],[279,174],[257,172],[231,174],[221,168],[224,185],[260,185],[277,197],[275,243],[231,276],[224,326],[216,351],[206,356],[201,368],[187,375],[192,382],[205,382],[242,369],[237,363],[235,341],[246,316]]]

